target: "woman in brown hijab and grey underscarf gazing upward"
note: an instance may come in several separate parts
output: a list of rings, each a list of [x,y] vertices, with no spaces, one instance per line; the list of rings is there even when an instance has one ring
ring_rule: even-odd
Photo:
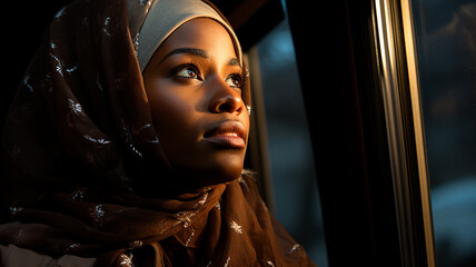
[[[77,0],[11,107],[9,266],[314,266],[242,171],[238,40],[198,0]]]

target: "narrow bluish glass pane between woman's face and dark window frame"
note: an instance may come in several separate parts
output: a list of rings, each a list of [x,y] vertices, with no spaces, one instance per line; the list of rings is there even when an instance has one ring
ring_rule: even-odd
[[[258,43],[275,215],[319,266],[327,264],[310,136],[288,22]]]

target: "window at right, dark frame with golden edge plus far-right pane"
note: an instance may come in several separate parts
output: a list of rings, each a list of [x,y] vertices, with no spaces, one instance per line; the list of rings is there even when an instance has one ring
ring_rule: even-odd
[[[475,266],[474,1],[287,4],[329,264]]]

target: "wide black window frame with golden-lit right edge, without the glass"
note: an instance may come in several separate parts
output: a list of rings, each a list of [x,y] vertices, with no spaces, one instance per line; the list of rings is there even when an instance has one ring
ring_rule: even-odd
[[[329,265],[435,266],[409,1],[286,3]]]

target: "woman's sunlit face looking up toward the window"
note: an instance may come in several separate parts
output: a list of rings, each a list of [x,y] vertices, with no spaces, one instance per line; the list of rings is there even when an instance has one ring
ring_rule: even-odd
[[[241,174],[249,131],[242,73],[228,31],[207,18],[180,26],[143,71],[165,154],[191,182],[206,186]]]

